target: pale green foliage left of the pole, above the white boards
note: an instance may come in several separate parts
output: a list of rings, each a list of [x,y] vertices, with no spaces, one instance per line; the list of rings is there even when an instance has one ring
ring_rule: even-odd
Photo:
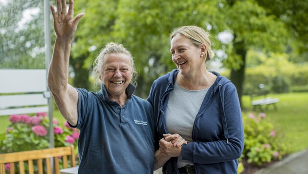
[[[42,0],[0,3],[0,68],[45,68]]]

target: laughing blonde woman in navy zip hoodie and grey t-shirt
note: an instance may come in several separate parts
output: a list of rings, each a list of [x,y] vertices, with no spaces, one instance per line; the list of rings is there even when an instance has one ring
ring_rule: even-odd
[[[155,169],[236,174],[244,143],[241,108],[231,81],[206,68],[214,56],[208,33],[197,26],[177,28],[170,52],[177,69],[156,79],[148,97],[160,139]],[[175,133],[187,144],[173,146],[166,136]]]

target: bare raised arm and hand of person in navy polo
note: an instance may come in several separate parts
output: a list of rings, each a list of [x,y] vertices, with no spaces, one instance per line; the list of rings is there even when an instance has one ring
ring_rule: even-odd
[[[77,125],[78,118],[78,93],[68,84],[68,60],[70,46],[77,29],[77,24],[83,14],[73,19],[73,0],[69,0],[69,8],[66,13],[66,0],[57,0],[58,13],[53,5],[50,6],[54,19],[54,28],[57,35],[52,59],[48,71],[48,87],[53,94],[56,105],[63,117],[71,125]]]

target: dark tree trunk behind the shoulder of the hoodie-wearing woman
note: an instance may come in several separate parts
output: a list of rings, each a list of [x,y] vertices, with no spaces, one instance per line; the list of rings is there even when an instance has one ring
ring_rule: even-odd
[[[240,105],[242,108],[242,91],[245,77],[245,67],[246,67],[246,52],[244,43],[235,43],[235,53],[242,58],[242,64],[239,69],[231,69],[230,80],[237,88],[237,92],[239,95]]]

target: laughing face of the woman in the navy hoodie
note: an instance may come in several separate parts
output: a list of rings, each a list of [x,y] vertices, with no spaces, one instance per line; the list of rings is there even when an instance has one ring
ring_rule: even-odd
[[[182,75],[198,72],[204,64],[200,57],[202,49],[182,34],[176,34],[171,40],[172,61]]]

